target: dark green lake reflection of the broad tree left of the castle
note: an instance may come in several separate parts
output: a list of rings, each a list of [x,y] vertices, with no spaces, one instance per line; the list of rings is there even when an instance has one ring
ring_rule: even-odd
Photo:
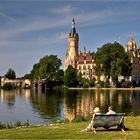
[[[44,119],[63,118],[63,94],[57,91],[32,92],[31,105]]]

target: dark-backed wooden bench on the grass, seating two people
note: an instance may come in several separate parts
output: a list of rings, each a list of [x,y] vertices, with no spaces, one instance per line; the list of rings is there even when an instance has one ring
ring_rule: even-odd
[[[109,129],[112,126],[117,126],[123,132],[125,129],[124,126],[124,116],[125,113],[118,114],[95,114],[93,122],[93,130],[96,133],[97,127],[104,127]]]

